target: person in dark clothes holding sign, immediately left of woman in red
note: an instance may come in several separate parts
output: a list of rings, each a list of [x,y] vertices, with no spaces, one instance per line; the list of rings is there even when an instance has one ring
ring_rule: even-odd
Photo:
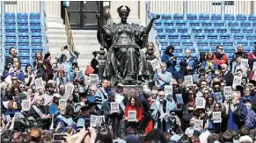
[[[107,101],[102,104],[101,110],[104,111],[105,119],[107,125],[111,125],[113,127],[113,134],[115,137],[120,137],[120,126],[121,126],[121,119],[123,116],[123,111],[121,110],[121,107],[119,104],[117,104],[117,107],[111,106],[111,104],[116,103],[114,100],[115,94],[114,91],[111,89],[108,92],[108,99]],[[116,111],[116,108],[118,109]]]

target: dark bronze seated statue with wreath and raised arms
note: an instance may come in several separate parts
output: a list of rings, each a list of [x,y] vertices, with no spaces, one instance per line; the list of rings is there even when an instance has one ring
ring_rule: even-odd
[[[146,56],[141,49],[148,45],[148,34],[154,20],[159,16],[152,18],[150,24],[143,27],[127,23],[130,12],[128,6],[121,6],[117,11],[121,23],[101,25],[98,22],[98,40],[107,50],[103,77],[110,80],[113,85],[116,83],[134,85],[147,82],[150,73]],[[99,21],[99,14],[97,18]]]

